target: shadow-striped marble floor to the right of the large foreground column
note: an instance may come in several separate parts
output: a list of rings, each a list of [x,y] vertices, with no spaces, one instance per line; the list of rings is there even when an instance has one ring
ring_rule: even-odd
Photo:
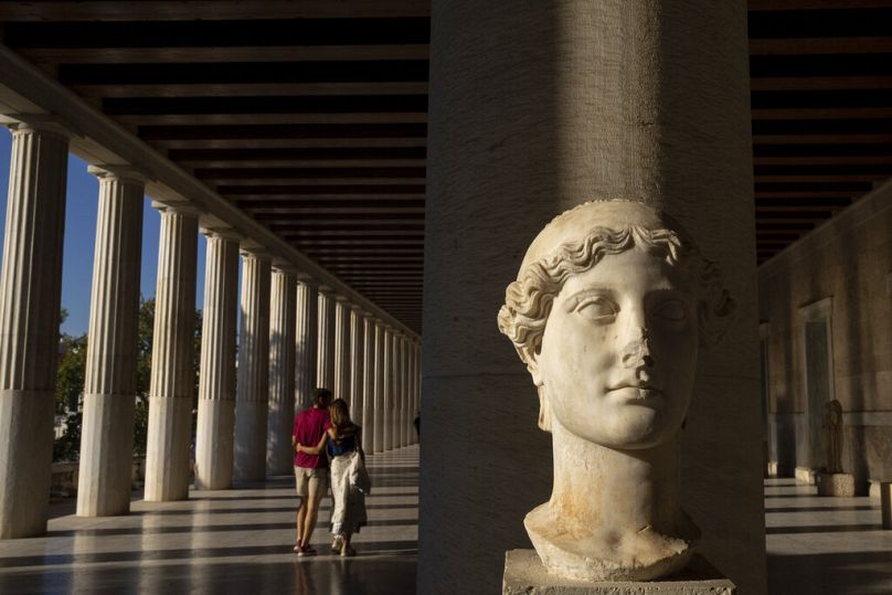
[[[765,480],[765,543],[772,594],[892,593],[892,531],[880,501],[819,498],[815,486]]]

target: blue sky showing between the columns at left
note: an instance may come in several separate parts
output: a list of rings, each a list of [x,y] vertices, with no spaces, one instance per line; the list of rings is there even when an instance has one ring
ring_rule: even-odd
[[[9,160],[12,135],[6,128],[0,131],[0,229],[6,235],[7,195],[9,192]],[[65,203],[65,248],[62,264],[62,307],[68,310],[68,319],[62,330],[70,334],[86,332],[89,323],[89,288],[93,279],[93,252],[96,240],[96,205],[99,182],[87,173],[87,164],[68,155],[68,184]],[[158,233],[161,216],[146,198],[142,211],[142,267],[140,291],[145,297],[155,296],[158,274]],[[0,243],[0,256],[2,255]],[[204,298],[204,236],[199,235],[198,276],[195,307],[201,308]]]

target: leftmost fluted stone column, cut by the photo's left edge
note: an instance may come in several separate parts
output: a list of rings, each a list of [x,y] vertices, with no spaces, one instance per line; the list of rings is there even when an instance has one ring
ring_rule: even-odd
[[[0,274],[0,539],[46,531],[67,157],[64,136],[13,128]]]

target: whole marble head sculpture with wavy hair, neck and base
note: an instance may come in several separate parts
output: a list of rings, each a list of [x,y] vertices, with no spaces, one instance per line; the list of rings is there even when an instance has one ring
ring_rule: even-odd
[[[677,435],[698,349],[733,310],[716,265],[643,203],[587,202],[533,240],[499,329],[552,433],[551,499],[524,519],[549,572],[647,581],[687,564],[700,531],[679,502]]]

